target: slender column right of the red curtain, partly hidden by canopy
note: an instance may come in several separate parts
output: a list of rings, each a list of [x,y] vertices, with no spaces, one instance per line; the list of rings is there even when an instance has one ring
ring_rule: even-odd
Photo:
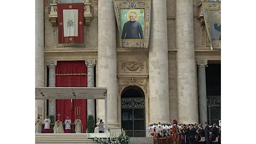
[[[96,60],[85,60],[87,66],[87,87],[94,87],[94,66]],[[87,99],[87,116],[92,115],[95,119],[95,99]]]

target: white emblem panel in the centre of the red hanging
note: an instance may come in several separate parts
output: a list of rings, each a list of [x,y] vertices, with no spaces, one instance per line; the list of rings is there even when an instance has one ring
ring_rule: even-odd
[[[78,9],[63,9],[64,37],[78,37]]]

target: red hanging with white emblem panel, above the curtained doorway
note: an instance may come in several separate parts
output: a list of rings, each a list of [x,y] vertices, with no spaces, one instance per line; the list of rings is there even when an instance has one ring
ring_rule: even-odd
[[[83,43],[83,3],[58,4],[58,43]]]

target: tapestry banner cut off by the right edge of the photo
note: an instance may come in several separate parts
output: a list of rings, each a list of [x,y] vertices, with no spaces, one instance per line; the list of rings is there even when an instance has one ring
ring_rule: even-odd
[[[220,2],[203,2],[205,27],[210,40],[211,49],[221,48],[220,6]]]

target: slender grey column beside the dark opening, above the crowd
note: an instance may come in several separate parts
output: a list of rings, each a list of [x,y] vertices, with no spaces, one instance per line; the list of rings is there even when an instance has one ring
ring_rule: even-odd
[[[205,66],[207,60],[197,60],[198,65],[198,97],[199,97],[199,122],[207,122],[207,100],[206,100],[206,75]]]

